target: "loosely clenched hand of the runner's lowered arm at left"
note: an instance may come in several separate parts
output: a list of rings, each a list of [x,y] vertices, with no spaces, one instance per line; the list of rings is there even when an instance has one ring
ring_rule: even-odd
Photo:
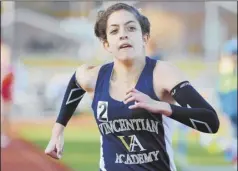
[[[45,149],[45,154],[54,158],[61,159],[64,148],[64,135],[61,133],[59,136],[52,136]]]

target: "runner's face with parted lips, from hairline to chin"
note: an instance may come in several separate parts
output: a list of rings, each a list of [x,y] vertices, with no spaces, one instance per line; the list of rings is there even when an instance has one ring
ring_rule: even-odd
[[[113,12],[107,21],[107,42],[104,47],[119,60],[130,60],[145,53],[147,39],[131,12]]]

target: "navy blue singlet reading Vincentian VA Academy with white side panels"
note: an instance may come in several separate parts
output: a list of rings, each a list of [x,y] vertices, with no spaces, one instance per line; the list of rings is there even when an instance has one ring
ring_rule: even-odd
[[[92,109],[101,133],[100,171],[176,171],[171,119],[144,109],[131,110],[113,99],[109,84],[113,62],[101,67]],[[153,88],[156,60],[146,57],[135,88],[159,100]]]

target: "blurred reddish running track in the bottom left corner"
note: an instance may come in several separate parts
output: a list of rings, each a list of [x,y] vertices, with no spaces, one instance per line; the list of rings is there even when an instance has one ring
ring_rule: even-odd
[[[71,171],[59,161],[49,158],[33,144],[14,139],[1,149],[1,171]]]

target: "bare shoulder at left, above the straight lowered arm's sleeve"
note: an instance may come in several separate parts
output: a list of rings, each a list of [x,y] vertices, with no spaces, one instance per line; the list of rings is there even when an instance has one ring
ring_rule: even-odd
[[[94,91],[100,68],[101,65],[94,66],[88,64],[80,65],[77,68],[76,71],[77,82],[85,91],[87,92]]]

